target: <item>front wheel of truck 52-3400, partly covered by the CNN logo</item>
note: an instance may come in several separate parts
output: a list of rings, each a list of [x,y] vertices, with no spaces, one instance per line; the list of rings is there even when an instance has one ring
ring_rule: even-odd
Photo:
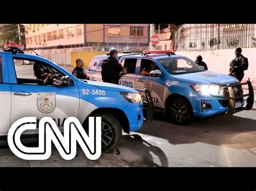
[[[122,128],[116,117],[106,112],[100,112],[90,117],[102,117],[102,151],[110,152],[120,142]],[[89,118],[86,120],[85,131],[88,133]]]

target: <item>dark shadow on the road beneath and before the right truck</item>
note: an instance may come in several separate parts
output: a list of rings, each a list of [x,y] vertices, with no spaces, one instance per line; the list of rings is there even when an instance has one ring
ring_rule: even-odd
[[[154,122],[138,132],[167,139],[174,145],[202,142],[247,150],[256,147],[256,121],[237,116],[214,116],[179,126],[156,114]]]

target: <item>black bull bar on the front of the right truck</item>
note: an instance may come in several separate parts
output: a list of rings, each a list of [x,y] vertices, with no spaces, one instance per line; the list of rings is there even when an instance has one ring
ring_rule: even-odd
[[[214,83],[214,84],[217,84],[217,83]],[[247,82],[244,82],[244,83],[235,83],[235,84],[227,84],[227,85],[217,84],[217,85],[219,85],[220,87],[226,87],[228,89],[228,95],[223,95],[223,96],[221,96],[221,95],[212,95],[212,94],[210,94],[210,95],[213,96],[213,97],[219,97],[219,98],[225,98],[226,99],[227,107],[228,107],[227,114],[233,115],[234,113],[239,112],[239,111],[251,110],[252,109],[253,102],[254,102],[254,93],[253,93],[252,83],[251,83],[250,79],[247,80]],[[234,92],[234,89],[238,89],[238,88],[240,88],[241,86],[244,86],[244,85],[248,86],[249,93],[248,94],[236,95],[236,93]],[[247,97],[247,99],[244,100],[243,99],[244,97]],[[246,106],[236,108],[235,103],[236,103],[237,100],[246,101],[247,102]]]

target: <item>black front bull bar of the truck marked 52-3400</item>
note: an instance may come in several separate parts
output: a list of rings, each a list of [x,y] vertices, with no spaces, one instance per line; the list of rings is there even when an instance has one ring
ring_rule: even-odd
[[[136,89],[136,88],[135,88]],[[150,91],[148,89],[136,89],[140,92],[145,93],[146,102],[143,103],[146,106],[146,113],[144,116],[143,124],[150,123],[153,120],[153,112],[154,112],[154,103]]]

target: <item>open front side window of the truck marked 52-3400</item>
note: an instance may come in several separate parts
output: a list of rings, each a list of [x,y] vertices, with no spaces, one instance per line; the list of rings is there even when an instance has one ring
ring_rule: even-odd
[[[18,84],[58,86],[56,80],[64,76],[39,60],[13,58],[13,62]]]

